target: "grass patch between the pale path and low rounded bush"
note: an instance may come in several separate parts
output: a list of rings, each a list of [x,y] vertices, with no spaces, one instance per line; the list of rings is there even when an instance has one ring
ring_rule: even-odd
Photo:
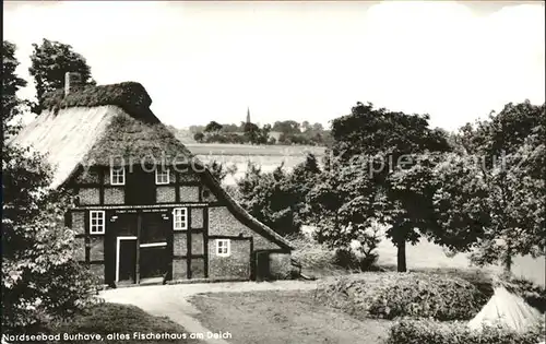
[[[376,344],[387,337],[391,325],[318,305],[312,292],[203,294],[190,301],[200,310],[195,318],[204,327],[229,331],[238,344]]]

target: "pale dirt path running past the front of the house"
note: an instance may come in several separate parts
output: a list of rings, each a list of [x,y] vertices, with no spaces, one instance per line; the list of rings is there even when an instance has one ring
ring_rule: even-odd
[[[309,290],[316,287],[317,282],[302,281],[177,284],[110,289],[102,292],[99,297],[107,303],[134,305],[153,316],[168,317],[181,324],[189,333],[203,333],[205,343],[228,344],[222,339],[207,339],[206,334],[212,331],[204,328],[193,317],[199,313],[199,310],[188,301],[189,297],[201,293]]]

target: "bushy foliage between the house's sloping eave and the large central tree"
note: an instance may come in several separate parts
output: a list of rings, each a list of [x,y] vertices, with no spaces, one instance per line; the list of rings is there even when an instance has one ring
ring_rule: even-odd
[[[285,171],[283,165],[272,173],[262,173],[249,162],[245,177],[237,181],[238,201],[281,235],[297,233],[308,216],[306,195],[319,174],[314,155],[308,155],[292,173]]]

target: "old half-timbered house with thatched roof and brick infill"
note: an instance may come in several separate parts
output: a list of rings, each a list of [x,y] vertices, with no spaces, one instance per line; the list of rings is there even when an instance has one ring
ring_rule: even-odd
[[[105,284],[286,275],[288,241],[250,216],[150,109],[139,83],[47,95],[14,143],[46,154],[78,260]]]

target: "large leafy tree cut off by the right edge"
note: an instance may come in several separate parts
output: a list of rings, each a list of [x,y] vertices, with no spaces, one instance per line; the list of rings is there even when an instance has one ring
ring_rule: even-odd
[[[461,152],[437,166],[438,225],[449,238],[474,237],[478,263],[509,271],[515,254],[545,253],[545,121],[544,105],[508,104],[463,127]]]

